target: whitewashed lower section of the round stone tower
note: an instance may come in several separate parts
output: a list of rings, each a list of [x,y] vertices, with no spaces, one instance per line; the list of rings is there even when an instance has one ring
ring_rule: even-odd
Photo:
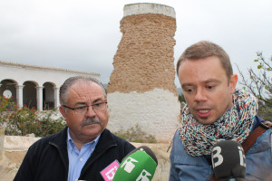
[[[160,142],[168,142],[179,126],[180,102],[169,90],[108,94],[108,129],[127,130],[138,124]]]

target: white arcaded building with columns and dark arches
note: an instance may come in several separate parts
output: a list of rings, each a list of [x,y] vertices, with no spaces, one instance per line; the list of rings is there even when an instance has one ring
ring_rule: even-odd
[[[59,90],[72,76],[100,80],[99,73],[0,61],[0,95],[13,96],[17,106],[46,110],[59,107]]]

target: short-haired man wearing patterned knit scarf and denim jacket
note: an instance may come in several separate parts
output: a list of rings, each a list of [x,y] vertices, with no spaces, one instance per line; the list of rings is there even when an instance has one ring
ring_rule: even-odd
[[[238,75],[219,45],[191,45],[180,56],[177,73],[187,106],[170,153],[170,181],[209,180],[210,148],[220,140],[245,142],[264,120],[257,117],[257,100],[236,89]],[[271,135],[272,129],[264,129],[248,148],[248,180],[265,180],[272,171]]]

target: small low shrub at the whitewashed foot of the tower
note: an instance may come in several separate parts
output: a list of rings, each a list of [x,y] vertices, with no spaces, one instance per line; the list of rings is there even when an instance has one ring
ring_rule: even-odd
[[[146,136],[146,132],[142,131],[138,124],[126,131],[119,130],[117,132],[113,132],[116,136],[120,138],[124,138],[130,142],[137,143],[156,143],[157,140],[154,136],[148,135]]]

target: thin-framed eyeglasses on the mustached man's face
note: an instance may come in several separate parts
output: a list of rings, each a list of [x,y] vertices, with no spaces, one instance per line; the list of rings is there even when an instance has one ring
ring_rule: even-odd
[[[107,101],[103,101],[103,102],[97,102],[95,104],[92,104],[90,106],[92,106],[92,110],[94,112],[98,112],[98,111],[102,111],[106,109],[106,104]],[[73,110],[75,114],[86,114],[89,110],[90,106],[81,106],[81,107],[77,107],[77,108],[70,108],[68,106],[63,105],[64,108],[68,108],[70,110]]]

